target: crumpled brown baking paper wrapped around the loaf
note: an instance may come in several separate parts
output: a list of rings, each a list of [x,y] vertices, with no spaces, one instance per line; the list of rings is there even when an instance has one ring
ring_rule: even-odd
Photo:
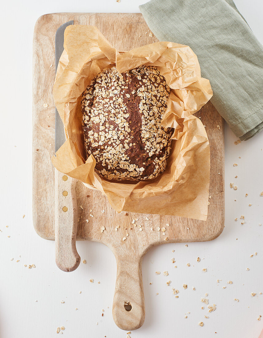
[[[107,196],[117,211],[207,219],[210,148],[205,128],[193,114],[212,97],[209,80],[201,78],[190,47],[156,42],[120,54],[94,26],[68,26],[53,95],[68,139],[53,156],[57,170]],[[80,98],[91,79],[106,67],[122,73],[155,66],[171,88],[162,125],[174,128],[167,168],[151,181],[114,183],[95,171],[86,159]]]

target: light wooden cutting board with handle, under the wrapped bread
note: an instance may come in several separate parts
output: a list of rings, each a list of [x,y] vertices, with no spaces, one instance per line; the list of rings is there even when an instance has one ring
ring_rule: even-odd
[[[70,20],[74,20],[74,25],[97,26],[119,51],[158,41],[154,35],[151,36],[139,13],[55,13],[38,19],[33,37],[33,223],[38,235],[49,240],[54,240],[55,213],[55,168],[51,163],[55,143],[55,106],[52,96],[55,78],[55,32],[59,26]],[[48,106],[44,107],[44,104]],[[196,116],[206,126],[211,146],[211,199],[206,222],[174,216],[130,212],[118,214],[112,209],[106,196],[77,182],[77,240],[101,242],[113,251],[117,260],[113,318],[123,330],[137,329],[144,321],[141,272],[144,254],[158,244],[210,241],[223,230],[223,119],[211,102],[197,112]],[[133,219],[138,220],[132,224]],[[139,231],[139,225],[143,227],[143,231]],[[103,233],[102,226],[105,227]],[[119,228],[115,230],[117,226]],[[166,228],[165,236],[157,230],[163,226]],[[123,241],[124,237],[126,240]],[[165,237],[168,237],[167,241],[164,240]]]

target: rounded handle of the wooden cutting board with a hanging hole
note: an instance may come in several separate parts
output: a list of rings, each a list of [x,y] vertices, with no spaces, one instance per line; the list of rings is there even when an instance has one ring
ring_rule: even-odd
[[[112,315],[116,325],[126,331],[139,329],[145,318],[142,283],[142,257],[117,256],[117,278]]]

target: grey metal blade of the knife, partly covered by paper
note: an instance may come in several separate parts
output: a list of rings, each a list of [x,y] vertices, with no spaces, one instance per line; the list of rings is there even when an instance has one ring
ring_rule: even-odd
[[[58,61],[61,57],[61,54],[64,50],[64,32],[66,27],[73,25],[74,21],[68,21],[58,27],[55,35],[55,67],[57,70]],[[58,114],[57,109],[55,108],[55,152],[63,145],[66,141],[64,124],[61,120],[61,117]]]

